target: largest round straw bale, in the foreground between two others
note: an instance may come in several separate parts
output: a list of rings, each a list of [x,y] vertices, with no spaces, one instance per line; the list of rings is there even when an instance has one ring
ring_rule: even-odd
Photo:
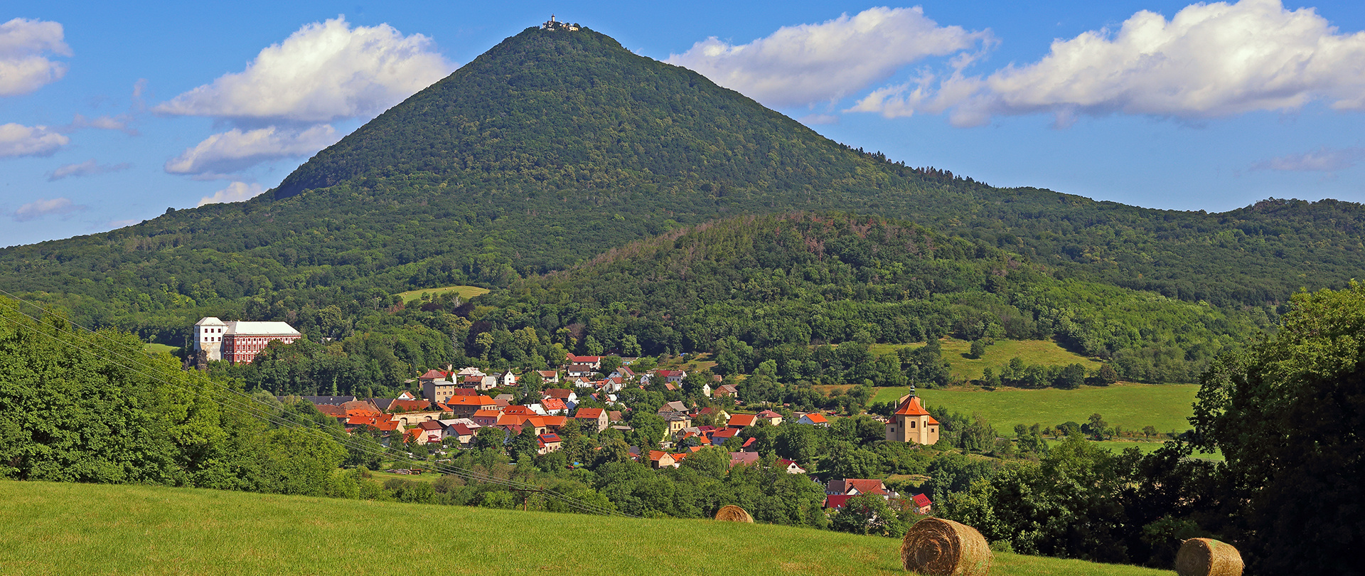
[[[986,576],[991,547],[976,528],[953,520],[927,517],[905,531],[901,561],[905,569],[928,576]]]

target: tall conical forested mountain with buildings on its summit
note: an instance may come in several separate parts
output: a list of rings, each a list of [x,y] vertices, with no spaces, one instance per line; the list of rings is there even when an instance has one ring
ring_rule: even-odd
[[[1360,205],[1205,214],[992,188],[831,142],[599,33],[527,29],[253,201],[0,250],[0,288],[161,337],[207,313],[344,313],[381,292],[504,285],[680,225],[826,209],[1219,306],[1365,277]]]

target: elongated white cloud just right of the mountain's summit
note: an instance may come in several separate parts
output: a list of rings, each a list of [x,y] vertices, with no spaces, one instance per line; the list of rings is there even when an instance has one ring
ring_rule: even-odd
[[[667,61],[767,105],[811,105],[861,91],[924,57],[990,44],[990,31],[939,26],[920,7],[882,7],[786,26],[749,44],[711,37]]]

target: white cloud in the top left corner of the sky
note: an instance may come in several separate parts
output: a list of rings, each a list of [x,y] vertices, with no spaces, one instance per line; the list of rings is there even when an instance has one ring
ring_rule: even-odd
[[[27,94],[60,81],[67,64],[48,53],[71,56],[57,22],[15,18],[0,25],[0,96]]]

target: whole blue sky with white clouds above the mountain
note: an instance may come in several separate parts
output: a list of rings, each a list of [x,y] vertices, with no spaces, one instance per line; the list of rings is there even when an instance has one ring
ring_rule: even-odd
[[[244,199],[551,12],[820,134],[995,186],[1365,202],[1365,3],[30,3],[0,246]]]

